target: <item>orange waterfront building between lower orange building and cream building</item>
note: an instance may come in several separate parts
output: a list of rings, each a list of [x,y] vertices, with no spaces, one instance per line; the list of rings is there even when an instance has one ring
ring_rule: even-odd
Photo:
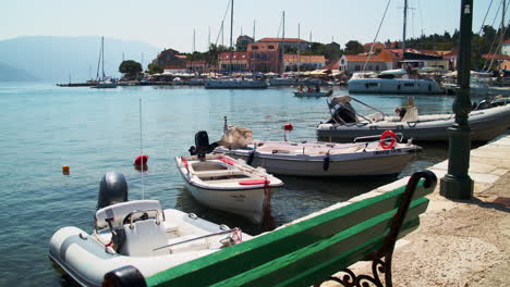
[[[247,47],[252,72],[282,72],[283,54],[278,42],[254,42]]]

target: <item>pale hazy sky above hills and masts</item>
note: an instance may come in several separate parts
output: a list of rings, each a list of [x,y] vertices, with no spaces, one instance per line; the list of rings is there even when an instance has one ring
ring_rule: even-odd
[[[501,0],[494,0],[486,20],[491,24]],[[2,1],[0,39],[19,36],[105,36],[142,40],[158,48],[190,52],[207,49],[208,29],[216,41],[229,0],[16,0]],[[409,0],[408,37],[459,27],[460,0]],[[473,30],[477,33],[490,0],[474,0]],[[372,41],[387,0],[234,0],[235,37],[277,37],[286,11],[286,37],[330,42],[342,47],[351,39]],[[402,38],[403,0],[391,0],[378,39]],[[496,18],[500,23],[500,14]],[[230,12],[229,12],[230,15]],[[226,18],[224,45],[229,45],[230,18]],[[280,32],[281,35],[281,32]],[[221,43],[221,39],[219,39]]]

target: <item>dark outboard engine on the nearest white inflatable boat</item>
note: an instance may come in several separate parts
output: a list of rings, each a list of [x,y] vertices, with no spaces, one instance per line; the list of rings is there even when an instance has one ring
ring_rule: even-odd
[[[114,172],[106,173],[99,184],[97,209],[124,201],[127,201],[127,183],[124,175]]]

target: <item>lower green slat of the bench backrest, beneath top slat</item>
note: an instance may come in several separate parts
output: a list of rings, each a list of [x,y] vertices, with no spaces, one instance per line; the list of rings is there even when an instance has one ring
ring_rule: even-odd
[[[420,224],[417,216],[425,212],[428,200],[415,203],[402,229],[413,229]],[[309,286],[378,250],[392,216],[393,212],[387,212],[212,286]]]

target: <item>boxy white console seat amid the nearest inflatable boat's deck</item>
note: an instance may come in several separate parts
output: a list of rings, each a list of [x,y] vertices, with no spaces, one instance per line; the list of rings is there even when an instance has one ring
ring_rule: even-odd
[[[125,224],[125,242],[122,254],[127,257],[151,257],[168,254],[168,249],[154,250],[168,244],[165,224],[156,220]]]

